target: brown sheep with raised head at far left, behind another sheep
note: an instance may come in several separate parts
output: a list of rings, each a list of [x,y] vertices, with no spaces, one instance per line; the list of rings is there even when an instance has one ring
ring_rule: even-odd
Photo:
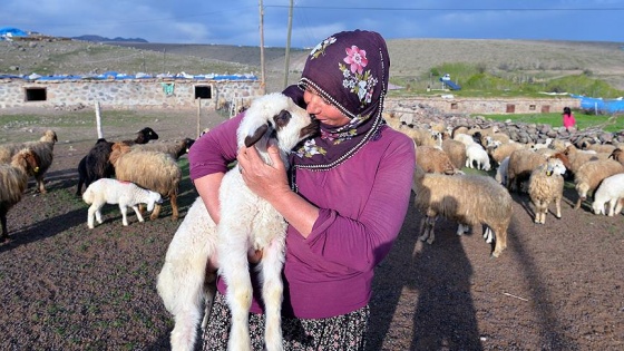
[[[0,146],[0,163],[9,163],[14,154],[23,148],[31,149],[37,154],[39,168],[37,172],[29,169],[29,176],[33,176],[37,181],[37,188],[41,194],[46,194],[46,184],[43,175],[52,165],[55,156],[55,144],[58,142],[56,131],[48,129],[43,133],[39,142],[26,142],[16,144],[4,144]]]

